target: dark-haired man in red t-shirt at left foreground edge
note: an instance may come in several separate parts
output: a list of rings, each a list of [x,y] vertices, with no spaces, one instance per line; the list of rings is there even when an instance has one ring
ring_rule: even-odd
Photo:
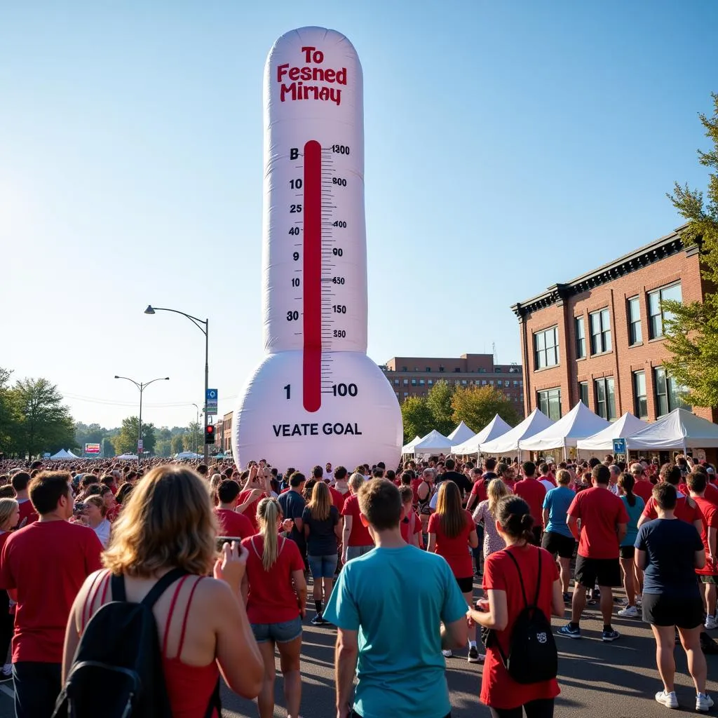
[[[12,663],[18,718],[52,716],[67,617],[85,579],[101,567],[97,534],[68,521],[71,481],[65,471],[34,477],[29,495],[39,519],[12,533],[0,557],[0,588],[17,601]]]

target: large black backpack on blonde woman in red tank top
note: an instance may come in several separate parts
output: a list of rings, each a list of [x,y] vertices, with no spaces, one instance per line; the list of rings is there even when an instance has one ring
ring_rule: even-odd
[[[172,718],[152,607],[178,579],[173,569],[140,603],[127,601],[123,576],[111,577],[110,603],[85,627],[52,718]],[[221,715],[219,681],[207,716]]]

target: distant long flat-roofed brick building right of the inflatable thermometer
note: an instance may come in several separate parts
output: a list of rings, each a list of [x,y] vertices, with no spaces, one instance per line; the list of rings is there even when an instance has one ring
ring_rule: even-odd
[[[393,357],[380,366],[398,400],[426,396],[444,379],[455,386],[495,386],[523,413],[523,376],[517,364],[494,364],[491,354],[462,354],[459,358]]]

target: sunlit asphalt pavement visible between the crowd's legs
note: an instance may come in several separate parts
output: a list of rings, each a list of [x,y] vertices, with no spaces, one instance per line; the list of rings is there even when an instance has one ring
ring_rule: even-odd
[[[304,718],[335,718],[333,648],[336,630],[315,628],[307,613],[302,651],[302,709]],[[568,618],[567,618],[568,620]],[[565,623],[554,618],[554,629]],[[671,711],[654,700],[662,689],[656,670],[656,646],[647,624],[636,619],[615,616],[614,628],[621,637],[614,643],[602,643],[602,620],[597,607],[588,607],[582,620],[581,640],[556,638],[559,646],[559,685],[556,718],[575,718],[579,712],[591,718],[653,718],[695,714],[695,691],[686,668],[686,656],[676,647],[676,692],[679,710]],[[718,639],[718,631],[712,632]],[[286,717],[281,708],[282,679],[276,663],[276,718]],[[467,663],[466,651],[447,659],[447,681],[452,701],[452,718],[488,718],[488,709],[480,704],[482,666]],[[709,691],[718,676],[718,656],[708,656]],[[0,718],[14,716],[12,684],[0,684]],[[256,705],[223,691],[225,718],[256,718]],[[718,714],[718,700],[712,713]],[[101,716],[98,713],[98,717]],[[388,717],[391,718],[391,717]]]

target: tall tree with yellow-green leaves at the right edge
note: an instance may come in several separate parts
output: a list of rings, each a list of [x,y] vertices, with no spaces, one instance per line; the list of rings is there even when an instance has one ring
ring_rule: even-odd
[[[698,244],[701,252],[701,274],[712,291],[704,301],[662,302],[668,312],[664,333],[670,360],[663,362],[666,371],[687,389],[685,400],[691,406],[718,406],[718,94],[713,93],[713,116],[699,113],[711,151],[698,151],[698,161],[713,170],[708,180],[708,200],[703,192],[678,182],[668,198],[688,226],[681,233],[686,246]]]

